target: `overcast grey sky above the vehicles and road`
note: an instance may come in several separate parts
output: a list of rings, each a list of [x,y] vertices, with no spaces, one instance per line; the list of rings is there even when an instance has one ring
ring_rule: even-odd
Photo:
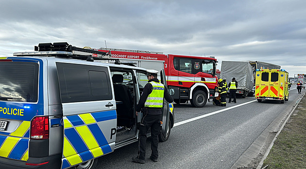
[[[38,43],[264,61],[306,74],[306,0],[0,0],[0,56]]]

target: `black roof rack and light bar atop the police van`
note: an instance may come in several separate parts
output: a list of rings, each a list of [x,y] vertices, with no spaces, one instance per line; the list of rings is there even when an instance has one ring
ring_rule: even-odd
[[[14,56],[55,56],[59,58],[72,58],[86,61],[113,60],[115,64],[120,64],[118,58],[113,59],[111,53],[94,49],[81,48],[69,45],[67,42],[40,43],[34,46],[38,52],[17,52]]]

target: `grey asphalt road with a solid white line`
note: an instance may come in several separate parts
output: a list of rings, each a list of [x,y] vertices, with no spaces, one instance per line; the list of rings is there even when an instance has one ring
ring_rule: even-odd
[[[212,103],[204,108],[174,104],[174,127],[170,138],[159,143],[159,162],[148,159],[151,154],[151,139],[148,138],[145,164],[131,161],[138,150],[137,143],[133,143],[100,157],[96,169],[230,169],[299,95],[293,85],[285,104],[258,103],[254,97],[237,98],[236,104],[227,103],[226,107]]]

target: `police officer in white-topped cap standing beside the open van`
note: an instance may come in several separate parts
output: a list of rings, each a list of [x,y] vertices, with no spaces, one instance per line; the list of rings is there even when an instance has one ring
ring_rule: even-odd
[[[136,116],[142,109],[143,117],[139,125],[138,155],[132,158],[137,163],[145,163],[147,131],[151,127],[151,156],[154,162],[158,161],[158,135],[161,130],[162,107],[164,98],[172,103],[173,98],[168,93],[167,87],[157,79],[156,70],[147,70],[148,83],[140,96]]]

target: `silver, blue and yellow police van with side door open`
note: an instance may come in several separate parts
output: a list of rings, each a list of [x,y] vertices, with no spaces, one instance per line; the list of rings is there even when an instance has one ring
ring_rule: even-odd
[[[92,169],[98,157],[137,141],[146,69],[94,62],[111,59],[67,43],[35,50],[0,58],[1,169]],[[159,79],[167,85],[163,70]],[[173,105],[164,100],[162,110],[166,141]]]

